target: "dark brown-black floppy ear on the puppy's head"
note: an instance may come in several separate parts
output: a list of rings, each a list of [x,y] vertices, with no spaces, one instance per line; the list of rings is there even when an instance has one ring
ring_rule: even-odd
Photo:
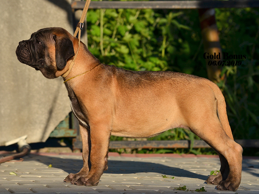
[[[57,69],[63,69],[66,66],[67,59],[75,55],[73,42],[63,36],[53,35],[56,42],[56,65]]]

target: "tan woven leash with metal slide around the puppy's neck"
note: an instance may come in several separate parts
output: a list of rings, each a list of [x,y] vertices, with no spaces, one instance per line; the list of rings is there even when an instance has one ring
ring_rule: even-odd
[[[77,24],[77,28],[76,28],[76,31],[75,31],[75,33],[74,33],[74,37],[76,37],[76,36],[77,36],[77,33],[78,33],[78,49],[77,49],[77,53],[76,53],[76,55],[74,56],[74,59],[73,59],[73,61],[72,61],[71,64],[70,64],[69,70],[68,70],[66,73],[64,73],[64,74],[62,75],[63,78],[65,78],[65,77],[70,73],[72,67],[73,67],[74,64],[75,64],[75,60],[76,60],[76,58],[77,58],[77,54],[78,54],[79,47],[80,47],[81,30],[83,30],[83,22],[84,22],[84,20],[85,20],[86,13],[87,13],[88,7],[89,7],[89,5],[90,5],[90,2],[91,2],[91,0],[86,0],[85,5],[84,5],[84,8],[83,8],[83,13],[82,13],[82,15],[81,15],[80,21],[79,21],[78,24]]]

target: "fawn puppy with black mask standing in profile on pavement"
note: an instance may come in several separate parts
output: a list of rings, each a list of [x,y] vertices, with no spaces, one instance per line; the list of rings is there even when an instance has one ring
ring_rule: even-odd
[[[216,84],[183,73],[105,65],[83,43],[70,70],[77,49],[78,39],[63,28],[40,29],[16,49],[20,62],[46,78],[63,76],[65,81],[83,141],[83,167],[65,182],[98,184],[108,169],[110,135],[147,138],[181,127],[198,135],[220,157],[220,172],[209,176],[207,184],[219,190],[238,189],[243,150],[233,140],[225,99]]]

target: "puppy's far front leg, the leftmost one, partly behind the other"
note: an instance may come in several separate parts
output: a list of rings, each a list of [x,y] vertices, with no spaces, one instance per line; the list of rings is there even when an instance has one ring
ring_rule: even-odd
[[[89,172],[90,131],[89,129],[86,129],[82,125],[79,125],[79,126],[80,126],[80,135],[82,137],[82,143],[83,143],[83,150],[82,150],[83,168],[80,170],[80,172],[76,174],[70,173],[64,181],[71,182],[71,184],[84,185],[84,182],[81,182],[79,178],[86,177]]]

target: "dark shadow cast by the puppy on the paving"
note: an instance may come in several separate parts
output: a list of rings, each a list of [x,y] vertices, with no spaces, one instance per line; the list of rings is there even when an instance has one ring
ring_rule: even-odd
[[[62,169],[67,173],[77,173],[83,166],[82,159],[68,159],[65,158],[51,157],[51,156],[39,156],[30,154],[24,158],[25,161],[38,161],[45,165],[51,164],[53,168]],[[161,175],[167,176],[179,176],[187,178],[196,178],[206,180],[208,176],[189,172],[184,169],[165,166],[163,164],[157,164],[152,162],[139,162],[139,161],[118,161],[108,159],[108,170],[104,173],[111,174],[134,174],[134,173],[145,173],[154,172]],[[143,174],[141,174],[143,175]],[[141,176],[140,175],[140,176]],[[209,175],[209,174],[208,174]]]

